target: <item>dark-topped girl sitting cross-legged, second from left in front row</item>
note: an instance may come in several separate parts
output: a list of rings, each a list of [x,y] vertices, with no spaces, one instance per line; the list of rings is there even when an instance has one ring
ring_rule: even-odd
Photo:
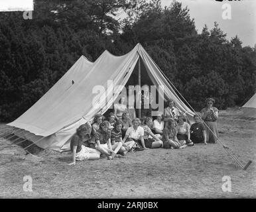
[[[101,154],[107,156],[107,159],[112,160],[117,156],[118,158],[121,157],[117,155],[117,152],[120,150],[122,143],[116,143],[111,145],[111,132],[109,131],[109,122],[103,121],[99,125],[99,130],[97,130],[95,134],[96,140],[96,149],[101,152]]]

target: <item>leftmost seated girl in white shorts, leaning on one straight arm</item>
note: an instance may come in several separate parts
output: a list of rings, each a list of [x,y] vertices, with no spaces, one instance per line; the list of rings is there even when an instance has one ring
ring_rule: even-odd
[[[90,133],[90,132],[89,132]],[[75,165],[76,160],[97,160],[100,152],[94,148],[84,146],[84,140],[88,136],[88,125],[84,124],[76,129],[76,134],[72,136],[70,149],[72,151],[72,163]]]

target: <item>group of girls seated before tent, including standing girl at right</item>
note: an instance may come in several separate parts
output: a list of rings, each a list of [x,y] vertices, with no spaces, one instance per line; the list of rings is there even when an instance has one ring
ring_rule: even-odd
[[[218,109],[212,107],[213,103],[214,99],[207,99],[208,107],[201,111],[205,123],[200,121],[199,115],[194,115],[195,123],[191,127],[186,115],[178,111],[172,99],[168,101],[164,114],[159,112],[154,121],[152,117],[134,118],[131,121],[128,111],[110,113],[108,121],[103,120],[103,115],[97,114],[92,125],[81,125],[72,137],[70,165],[76,164],[76,160],[121,158],[135,148],[180,149],[199,142],[215,143],[218,134],[214,133],[218,131],[213,122],[218,119]]]

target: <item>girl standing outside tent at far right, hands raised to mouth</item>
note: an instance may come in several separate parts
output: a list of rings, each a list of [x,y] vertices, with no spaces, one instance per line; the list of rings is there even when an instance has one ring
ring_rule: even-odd
[[[207,107],[202,109],[202,119],[206,124],[206,142],[216,143],[218,140],[219,132],[217,128],[218,109],[213,107],[215,100],[213,98],[206,99]]]

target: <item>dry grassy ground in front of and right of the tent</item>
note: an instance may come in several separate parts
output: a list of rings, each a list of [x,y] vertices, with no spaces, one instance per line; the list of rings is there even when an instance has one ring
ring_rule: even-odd
[[[1,139],[0,197],[255,198],[256,121],[235,119],[240,113],[238,109],[220,111],[218,127],[222,141],[243,164],[253,160],[246,171],[236,166],[219,144],[145,150],[127,154],[125,159],[68,166],[69,152],[26,154],[20,146]],[[1,133],[5,125],[0,126]],[[23,189],[25,176],[31,176],[32,191]],[[231,192],[222,190],[224,176],[231,178]]]

